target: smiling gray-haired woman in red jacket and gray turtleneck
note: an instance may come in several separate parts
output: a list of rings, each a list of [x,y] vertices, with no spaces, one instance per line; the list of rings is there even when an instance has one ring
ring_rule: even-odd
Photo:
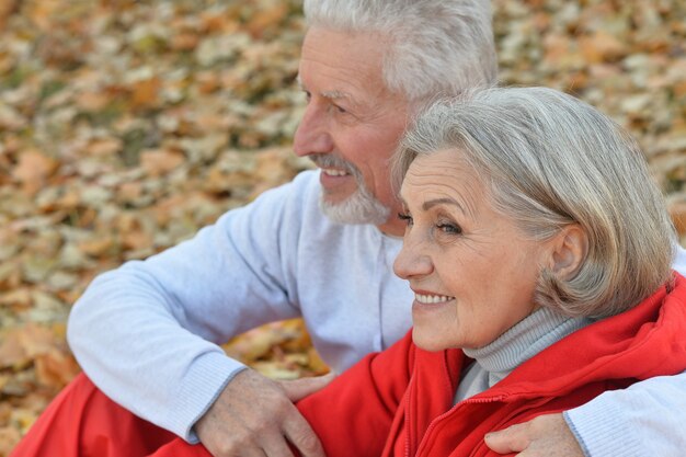
[[[414,327],[298,403],[328,457],[494,455],[490,431],[686,369],[673,227],[609,118],[549,89],[475,91],[419,117],[395,174]]]

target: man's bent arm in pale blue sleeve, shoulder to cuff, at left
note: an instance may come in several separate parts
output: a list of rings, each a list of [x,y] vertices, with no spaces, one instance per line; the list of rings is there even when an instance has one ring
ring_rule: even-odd
[[[284,239],[283,218],[289,233],[299,224],[299,202],[283,202],[296,194],[294,184],[272,191],[190,241],[99,276],[68,328],[93,381],[137,415],[195,441],[193,424],[244,368],[216,343],[299,312],[282,262],[296,244]]]

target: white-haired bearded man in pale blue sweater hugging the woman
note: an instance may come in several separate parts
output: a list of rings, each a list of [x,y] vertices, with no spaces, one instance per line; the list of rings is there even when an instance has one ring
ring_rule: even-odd
[[[217,457],[287,456],[287,442],[321,456],[291,404],[317,385],[268,380],[217,344],[301,316],[323,359],[341,372],[402,336],[412,295],[391,271],[403,224],[388,160],[426,101],[496,75],[482,0],[305,0],[305,13],[299,81],[308,105],[295,151],[320,171],[229,212],[190,241],[101,275],[69,321],[70,345],[105,395]],[[678,255],[686,272],[686,254]],[[488,443],[527,456],[581,456],[582,448],[594,457],[676,456],[686,446],[683,411],[686,375],[602,396]]]

